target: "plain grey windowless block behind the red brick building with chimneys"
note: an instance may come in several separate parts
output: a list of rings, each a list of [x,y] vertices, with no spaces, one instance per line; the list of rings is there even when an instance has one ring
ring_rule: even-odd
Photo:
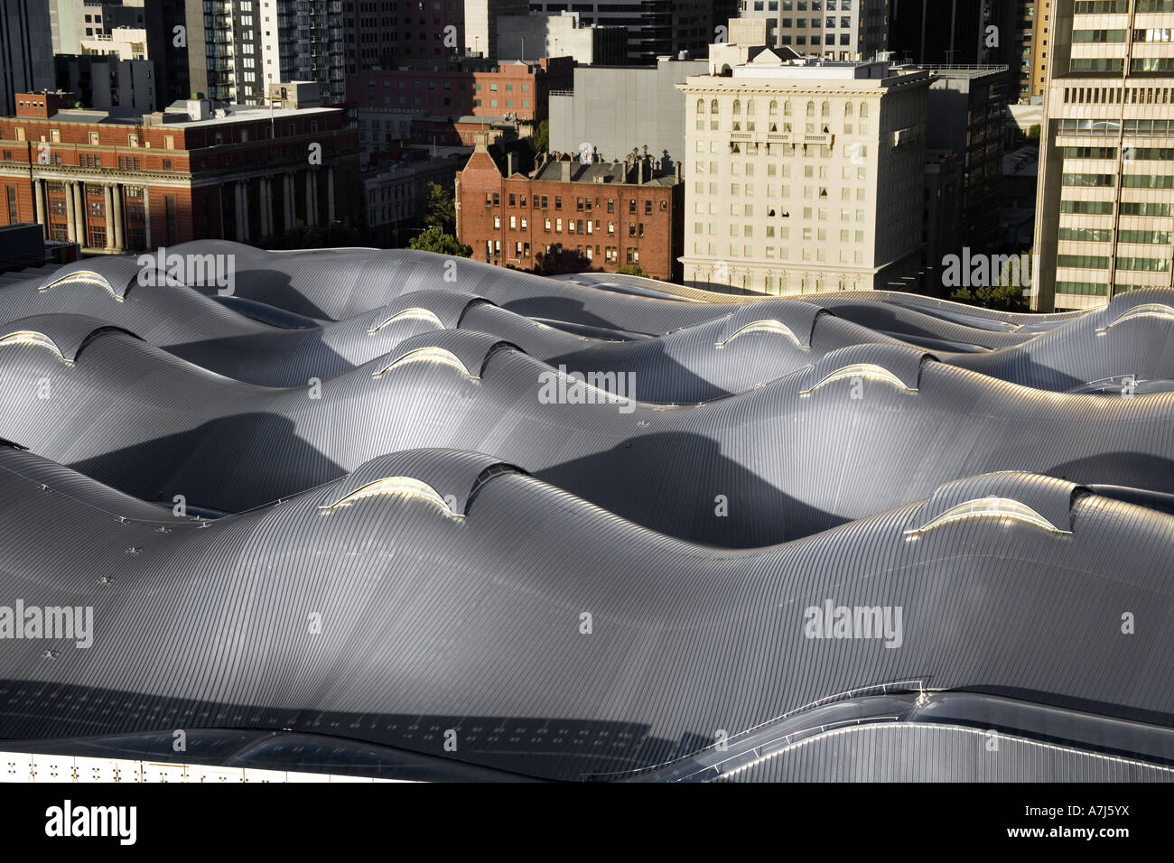
[[[707,68],[704,60],[670,58],[575,67],[574,88],[551,94],[551,148],[614,160],[647,146],[657,159],[683,159],[686,110],[676,86]]]

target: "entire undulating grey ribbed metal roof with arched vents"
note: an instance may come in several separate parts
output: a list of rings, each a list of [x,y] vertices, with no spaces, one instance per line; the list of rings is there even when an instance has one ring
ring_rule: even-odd
[[[168,255],[0,283],[0,748],[1174,777],[1174,291]]]

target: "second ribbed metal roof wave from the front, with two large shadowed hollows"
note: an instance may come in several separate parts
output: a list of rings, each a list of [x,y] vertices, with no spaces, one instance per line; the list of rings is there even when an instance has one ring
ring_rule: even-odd
[[[745,338],[749,348],[775,337]],[[862,377],[804,398],[812,375],[799,370],[700,406],[544,404],[544,379],[558,400],[558,376],[511,349],[488,353],[495,337],[436,331],[405,344],[463,341],[475,343],[466,368],[478,380],[433,362],[373,378],[403,356],[397,348],[323,380],[317,393],[229,380],[116,332],[94,338],[74,366],[43,348],[8,345],[0,349],[0,438],[136,497],[184,494],[193,506],[228,512],[398,450],[479,450],[647,527],[741,547],[807,535],[991,471],[1174,492],[1169,393],[1044,393],[924,362],[917,392]],[[923,355],[846,350],[890,365],[890,355]],[[42,379],[52,387],[45,399],[36,397]],[[636,377],[637,402],[641,387]],[[728,515],[717,514],[723,504]]]

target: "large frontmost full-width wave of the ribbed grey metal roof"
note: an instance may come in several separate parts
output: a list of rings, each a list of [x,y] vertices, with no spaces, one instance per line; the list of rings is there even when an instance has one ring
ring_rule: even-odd
[[[477,458],[386,466],[436,477]],[[515,473],[464,519],[403,497],[323,513],[337,491],[156,537],[0,472],[0,596],[95,608],[88,649],[6,645],[0,737],[290,728],[576,778],[883,681],[1174,723],[1174,518],[1140,507],[1081,498],[1059,539],[976,521],[910,542],[912,504],[730,552]],[[902,646],[807,638],[825,600],[900,607]],[[1122,638],[1121,609],[1149,623]]]

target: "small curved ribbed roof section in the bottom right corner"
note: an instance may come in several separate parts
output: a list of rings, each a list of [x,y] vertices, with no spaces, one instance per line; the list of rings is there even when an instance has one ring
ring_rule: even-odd
[[[814,734],[713,781],[1172,782],[1174,770],[960,726],[872,722]]]

